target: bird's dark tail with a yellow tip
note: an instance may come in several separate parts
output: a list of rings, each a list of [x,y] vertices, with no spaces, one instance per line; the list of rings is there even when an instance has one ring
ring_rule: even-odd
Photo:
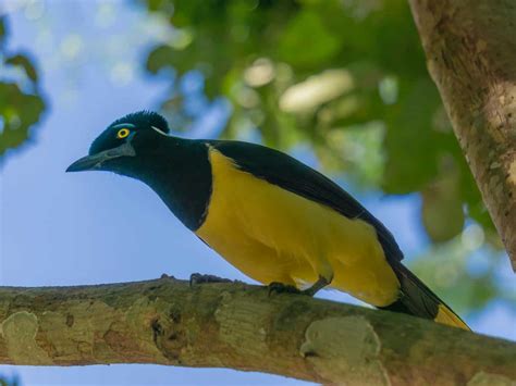
[[[391,265],[401,283],[401,296],[394,303],[382,307],[382,309],[431,319],[438,323],[467,331],[470,329],[444,301],[439,299],[405,265],[397,261],[391,262]]]

